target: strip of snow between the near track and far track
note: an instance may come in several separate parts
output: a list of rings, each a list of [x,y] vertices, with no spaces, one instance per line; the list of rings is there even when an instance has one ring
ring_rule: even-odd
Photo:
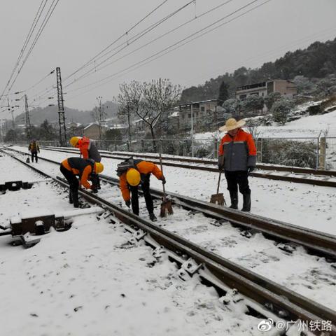
[[[13,148],[22,151],[22,147]],[[76,156],[71,153],[46,150],[41,151],[41,155],[59,162],[64,158]],[[104,174],[117,177],[116,166],[120,160],[104,158],[102,162],[105,165]],[[55,172],[57,170],[58,168]],[[209,201],[211,195],[216,193],[218,173],[166,166],[164,172],[167,177],[166,188],[172,193],[188,195],[204,201]],[[249,182],[252,190],[251,212],[253,214],[336,235],[334,188],[256,177],[250,177]],[[162,188],[162,184],[155,177],[151,179],[151,186]],[[224,193],[225,200],[230,200],[225,177],[221,181],[221,191]],[[241,195],[239,197],[239,206],[241,206],[242,197]]]

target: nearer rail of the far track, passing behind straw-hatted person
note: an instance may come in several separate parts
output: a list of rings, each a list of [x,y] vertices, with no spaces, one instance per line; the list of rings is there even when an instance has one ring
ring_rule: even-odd
[[[48,151],[57,151],[57,152],[64,152],[64,153],[76,153],[78,154],[78,151],[73,149],[56,149],[56,148],[50,148],[45,147]],[[117,159],[117,160],[125,160],[126,158],[130,158],[130,155],[121,155],[121,154],[113,154],[113,155],[102,155],[102,158],[109,158],[109,159]],[[158,157],[151,157],[149,155],[134,155],[134,158],[158,158]],[[169,158],[166,158],[166,160],[170,160]],[[151,160],[153,163],[159,164],[159,160]],[[186,168],[186,169],[195,169],[195,170],[202,170],[206,172],[215,172],[218,173],[217,167],[206,167],[206,166],[195,166],[195,165],[183,165],[181,163],[175,163],[175,162],[162,162],[162,165],[170,166],[170,167],[178,167],[178,168]],[[211,163],[211,165],[214,165],[214,162]],[[273,167],[276,169],[276,167]],[[262,169],[262,167],[260,167]],[[314,169],[312,169],[314,170]],[[281,169],[281,171],[286,171],[285,169]],[[326,172],[326,171],[325,171]],[[270,179],[270,180],[276,180],[276,181],[287,181],[291,183],[303,183],[303,184],[310,184],[312,186],[322,186],[322,187],[336,187],[336,181],[328,181],[325,179],[306,179],[304,177],[297,177],[297,176],[286,176],[286,175],[274,175],[274,174],[267,174],[262,172],[251,172],[249,173],[250,176],[262,178],[262,179]],[[332,176],[329,176],[332,177]],[[327,176],[328,179],[328,176]]]

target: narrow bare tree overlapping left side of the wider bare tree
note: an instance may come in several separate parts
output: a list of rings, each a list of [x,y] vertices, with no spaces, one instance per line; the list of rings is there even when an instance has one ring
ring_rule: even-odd
[[[119,89],[120,94],[115,99],[119,104],[118,118],[127,122],[128,143],[129,146],[132,146],[132,118],[140,108],[142,85],[137,80],[132,80],[129,84],[120,84]]]

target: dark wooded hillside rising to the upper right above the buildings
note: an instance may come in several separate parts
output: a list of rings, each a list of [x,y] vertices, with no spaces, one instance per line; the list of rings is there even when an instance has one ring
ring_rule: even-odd
[[[286,52],[274,62],[266,62],[258,69],[241,66],[233,73],[225,73],[207,80],[204,85],[188,87],[182,92],[181,103],[218,98],[222,82],[229,85],[233,96],[235,87],[262,82],[270,79],[293,79],[295,76],[306,78],[325,78],[336,72],[336,38],[325,43],[314,42],[308,48]]]

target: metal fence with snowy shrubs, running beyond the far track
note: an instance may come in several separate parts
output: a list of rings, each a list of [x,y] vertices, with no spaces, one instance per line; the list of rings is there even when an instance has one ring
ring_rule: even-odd
[[[27,141],[18,144],[27,145]],[[134,139],[133,141],[95,141],[104,151],[159,153],[217,158],[220,139]],[[57,141],[39,141],[41,146],[59,146]],[[259,138],[255,141],[257,162],[292,167],[336,170],[336,137]],[[70,145],[69,145],[70,146]]]

